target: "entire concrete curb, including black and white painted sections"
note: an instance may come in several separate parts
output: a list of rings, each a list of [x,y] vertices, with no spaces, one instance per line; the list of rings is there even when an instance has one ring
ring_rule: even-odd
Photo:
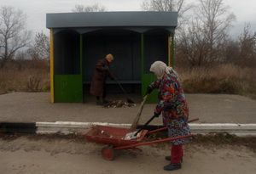
[[[73,121],[56,121],[56,122],[0,122],[0,132],[26,132],[26,133],[79,133],[87,132],[91,126],[117,126],[130,127],[131,124],[114,124],[102,122],[73,122]],[[151,125],[157,127],[159,125]],[[207,133],[230,133],[236,136],[255,136],[256,124],[234,124],[234,123],[189,123],[193,134]]]

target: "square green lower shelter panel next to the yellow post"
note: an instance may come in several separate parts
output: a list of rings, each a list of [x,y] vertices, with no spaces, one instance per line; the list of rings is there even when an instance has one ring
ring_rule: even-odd
[[[55,75],[55,102],[83,102],[81,75]]]

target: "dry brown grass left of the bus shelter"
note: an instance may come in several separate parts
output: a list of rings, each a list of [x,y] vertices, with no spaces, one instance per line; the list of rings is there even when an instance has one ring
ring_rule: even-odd
[[[49,91],[48,62],[17,60],[0,69],[0,94]]]

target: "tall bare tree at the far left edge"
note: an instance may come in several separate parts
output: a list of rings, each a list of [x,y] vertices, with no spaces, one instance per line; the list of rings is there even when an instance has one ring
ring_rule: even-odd
[[[26,15],[13,7],[0,8],[0,67],[26,47],[31,32],[26,31]]]

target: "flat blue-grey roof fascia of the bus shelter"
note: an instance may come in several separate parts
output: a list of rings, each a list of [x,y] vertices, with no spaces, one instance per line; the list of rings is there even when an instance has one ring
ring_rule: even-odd
[[[47,28],[172,27],[177,12],[85,12],[46,14]]]

